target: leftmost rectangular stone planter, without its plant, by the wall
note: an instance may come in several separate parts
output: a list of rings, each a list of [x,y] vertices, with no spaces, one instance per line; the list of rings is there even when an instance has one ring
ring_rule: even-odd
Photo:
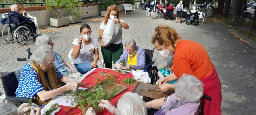
[[[69,17],[62,17],[62,18],[50,18],[50,26],[60,27],[63,25],[69,24]]]

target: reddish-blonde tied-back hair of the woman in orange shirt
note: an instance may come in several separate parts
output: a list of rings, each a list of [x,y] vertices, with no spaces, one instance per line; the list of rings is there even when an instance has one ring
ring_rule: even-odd
[[[166,25],[159,25],[155,28],[155,34],[151,39],[151,43],[158,42],[159,45],[164,45],[164,47],[168,46],[168,41],[171,42],[173,47],[179,39],[182,39],[176,30],[172,27]]]

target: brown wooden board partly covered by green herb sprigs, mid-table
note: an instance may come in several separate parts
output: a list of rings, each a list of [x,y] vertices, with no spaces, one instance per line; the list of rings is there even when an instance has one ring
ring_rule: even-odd
[[[124,85],[121,85],[121,84],[115,83],[115,82],[112,82],[110,85],[105,85],[105,86],[103,86],[102,88],[103,88],[104,91],[106,91],[106,93],[111,94],[112,90],[113,90],[115,87],[117,87],[117,89],[119,89],[119,88],[120,88],[120,89],[115,93],[114,97],[115,97],[116,95],[118,95],[119,93],[122,93],[123,91],[125,91],[126,89],[128,89],[127,86],[124,86]],[[86,90],[94,91],[95,89],[92,88],[92,87],[90,87],[90,88],[88,88],[88,89],[86,89]]]

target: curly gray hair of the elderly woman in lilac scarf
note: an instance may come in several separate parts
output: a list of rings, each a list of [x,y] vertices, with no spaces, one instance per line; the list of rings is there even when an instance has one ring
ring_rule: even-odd
[[[195,76],[183,74],[174,83],[175,95],[187,103],[198,102],[203,96],[203,83]]]

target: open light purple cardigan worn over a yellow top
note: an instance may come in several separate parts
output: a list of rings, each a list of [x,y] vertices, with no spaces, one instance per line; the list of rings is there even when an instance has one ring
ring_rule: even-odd
[[[146,56],[145,56],[145,50],[139,46],[136,46],[137,48],[137,65],[133,66],[133,70],[146,70],[147,64],[146,64]],[[127,65],[128,61],[128,52],[126,50],[123,51],[123,54],[120,56],[120,59],[115,62],[121,63],[121,61],[125,60],[125,65]],[[114,67],[115,67],[114,64]]]

